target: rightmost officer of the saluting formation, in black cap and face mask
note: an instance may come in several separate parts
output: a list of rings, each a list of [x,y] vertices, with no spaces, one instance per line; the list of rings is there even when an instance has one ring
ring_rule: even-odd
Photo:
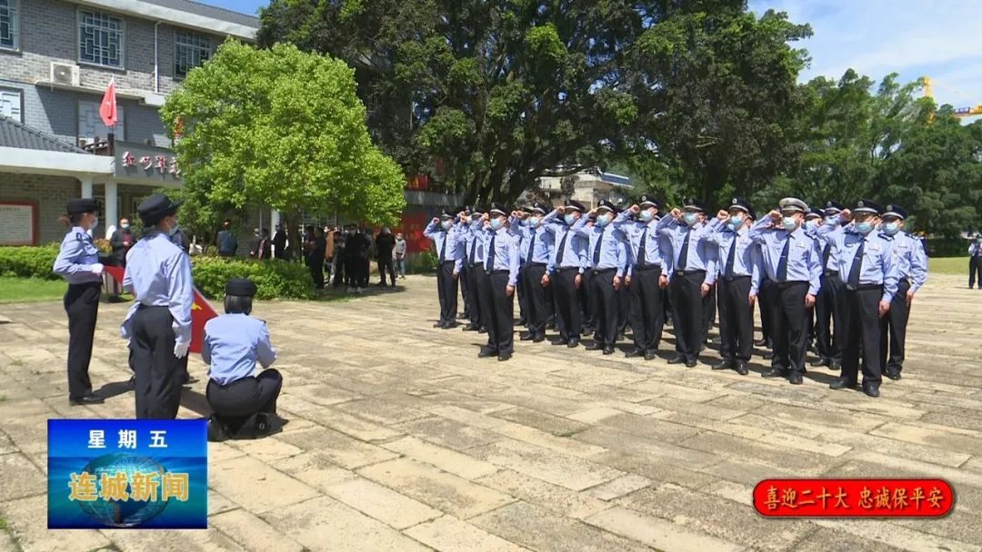
[[[880,231],[894,242],[894,258],[900,271],[897,293],[890,312],[883,317],[880,336],[880,366],[891,379],[900,379],[903,370],[907,319],[914,294],[927,281],[927,255],[920,240],[903,231],[907,212],[897,204],[887,205]]]

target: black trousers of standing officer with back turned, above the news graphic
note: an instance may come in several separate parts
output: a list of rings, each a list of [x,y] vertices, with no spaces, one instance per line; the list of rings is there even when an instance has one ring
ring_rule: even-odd
[[[140,306],[133,316],[131,368],[136,418],[174,420],[181,405],[181,359],[174,356],[174,318],[167,307]]]

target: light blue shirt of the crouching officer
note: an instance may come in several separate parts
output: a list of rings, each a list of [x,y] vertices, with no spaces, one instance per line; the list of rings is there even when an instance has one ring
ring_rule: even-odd
[[[257,361],[269,368],[276,361],[276,349],[266,323],[243,314],[222,315],[204,325],[201,359],[211,367],[208,377],[228,385],[252,376]]]

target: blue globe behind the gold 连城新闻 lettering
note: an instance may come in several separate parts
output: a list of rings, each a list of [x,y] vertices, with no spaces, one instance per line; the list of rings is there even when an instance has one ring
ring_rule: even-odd
[[[158,474],[156,480],[159,482],[164,477],[164,467],[157,462],[142,456],[131,456],[129,454],[107,454],[100,456],[85,466],[85,472],[95,476],[96,481],[102,479],[102,475],[109,477],[117,473],[127,475],[127,480],[132,481],[134,474]],[[159,488],[159,487],[158,487]],[[132,492],[133,488],[128,483],[127,492]],[[159,498],[159,491],[157,493]],[[129,500],[98,500],[91,502],[80,501],[78,504],[82,512],[88,514],[92,519],[110,527],[134,527],[149,522],[156,518],[167,507],[168,501],[136,501]]]

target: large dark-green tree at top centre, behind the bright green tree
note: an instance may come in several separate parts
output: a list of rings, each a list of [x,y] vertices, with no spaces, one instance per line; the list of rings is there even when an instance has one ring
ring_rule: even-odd
[[[637,106],[627,49],[665,2],[274,0],[259,42],[352,64],[368,125],[407,168],[468,201],[512,202],[558,165],[596,163]]]

